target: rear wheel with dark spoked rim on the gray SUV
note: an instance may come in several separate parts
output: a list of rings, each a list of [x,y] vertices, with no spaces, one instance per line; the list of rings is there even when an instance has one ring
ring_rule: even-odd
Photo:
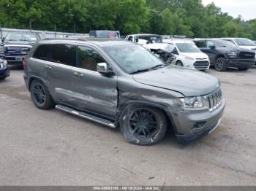
[[[53,99],[50,96],[48,88],[42,81],[34,79],[31,82],[30,93],[34,105],[39,109],[50,109],[53,108]]]

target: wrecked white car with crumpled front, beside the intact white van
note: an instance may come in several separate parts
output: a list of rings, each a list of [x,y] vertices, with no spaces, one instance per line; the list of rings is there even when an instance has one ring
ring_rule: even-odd
[[[145,47],[147,50],[152,52],[154,55],[156,55],[167,64],[172,64],[176,61],[176,56],[172,53],[175,47],[172,44],[154,43],[145,44],[143,45],[143,47]]]

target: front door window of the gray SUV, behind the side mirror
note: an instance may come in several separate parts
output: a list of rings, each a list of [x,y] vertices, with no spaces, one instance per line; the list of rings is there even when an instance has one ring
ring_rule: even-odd
[[[105,59],[91,47],[78,46],[78,68],[97,71],[97,63],[105,63]]]

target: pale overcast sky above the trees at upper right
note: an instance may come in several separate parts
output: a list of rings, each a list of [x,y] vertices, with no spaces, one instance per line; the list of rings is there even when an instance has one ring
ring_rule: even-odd
[[[202,0],[204,5],[214,2],[222,12],[238,17],[241,15],[244,20],[256,19],[256,0]]]

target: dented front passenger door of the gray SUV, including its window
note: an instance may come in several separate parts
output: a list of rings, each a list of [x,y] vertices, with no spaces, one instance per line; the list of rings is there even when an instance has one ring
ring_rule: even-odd
[[[73,75],[75,106],[81,110],[116,118],[117,77],[99,74],[97,63],[108,62],[94,47],[77,47],[77,66]],[[110,66],[109,63],[108,65]]]

